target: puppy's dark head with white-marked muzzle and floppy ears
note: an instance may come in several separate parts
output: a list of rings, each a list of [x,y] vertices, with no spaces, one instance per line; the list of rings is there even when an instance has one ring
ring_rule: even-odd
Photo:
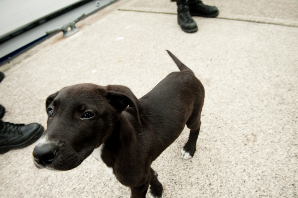
[[[79,166],[109,138],[128,105],[140,123],[142,105],[128,87],[77,84],[53,93],[46,99],[47,129],[33,150],[35,166]]]

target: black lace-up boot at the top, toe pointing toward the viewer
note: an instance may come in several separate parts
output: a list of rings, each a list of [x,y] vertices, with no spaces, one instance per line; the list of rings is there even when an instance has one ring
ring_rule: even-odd
[[[184,32],[193,33],[198,31],[198,26],[191,17],[186,3],[178,4],[177,12],[178,24]]]

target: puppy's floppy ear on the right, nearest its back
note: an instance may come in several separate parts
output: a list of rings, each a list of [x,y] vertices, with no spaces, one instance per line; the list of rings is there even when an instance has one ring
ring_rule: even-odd
[[[119,111],[124,111],[128,105],[133,107],[136,119],[139,124],[141,124],[140,114],[143,110],[143,106],[130,88],[123,85],[108,85],[107,90],[107,98],[110,104]]]

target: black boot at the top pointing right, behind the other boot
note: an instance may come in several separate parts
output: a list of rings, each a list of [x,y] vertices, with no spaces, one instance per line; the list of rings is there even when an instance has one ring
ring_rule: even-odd
[[[200,0],[188,0],[187,5],[192,16],[216,17],[219,14],[216,6],[205,5]]]

